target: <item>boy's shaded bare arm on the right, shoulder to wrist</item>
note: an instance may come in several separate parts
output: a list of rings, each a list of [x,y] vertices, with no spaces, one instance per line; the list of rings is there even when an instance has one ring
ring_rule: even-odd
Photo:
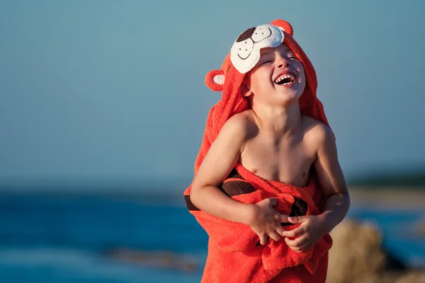
[[[324,126],[322,129],[322,145],[317,152],[314,168],[325,200],[319,217],[323,218],[323,223],[326,224],[324,229],[329,233],[346,216],[350,196],[339,165],[334,136],[329,127]]]

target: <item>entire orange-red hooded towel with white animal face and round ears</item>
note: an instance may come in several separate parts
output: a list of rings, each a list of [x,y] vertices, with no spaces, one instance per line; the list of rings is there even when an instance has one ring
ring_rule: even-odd
[[[248,100],[241,95],[241,86],[246,72],[258,62],[259,50],[276,47],[282,42],[293,50],[304,67],[307,85],[300,97],[301,114],[314,117],[329,127],[322,103],[316,96],[316,73],[310,60],[293,39],[292,26],[286,21],[275,20],[271,25],[250,28],[234,42],[222,68],[210,71],[205,77],[209,88],[222,91],[222,99],[208,114],[203,142],[196,158],[195,175],[229,117],[249,109]],[[242,45],[247,47],[245,51],[239,49]],[[240,163],[237,163],[220,189],[234,200],[250,204],[274,197],[278,200],[276,211],[290,216],[317,215],[323,201],[314,174],[307,187],[295,187],[263,180]],[[328,251],[332,244],[329,235],[305,253],[290,250],[283,238],[278,242],[270,240],[266,246],[261,246],[259,236],[249,226],[200,211],[191,203],[190,193],[191,186],[184,192],[188,210],[209,236],[203,283],[325,282]],[[285,229],[295,229],[299,225],[285,225]]]

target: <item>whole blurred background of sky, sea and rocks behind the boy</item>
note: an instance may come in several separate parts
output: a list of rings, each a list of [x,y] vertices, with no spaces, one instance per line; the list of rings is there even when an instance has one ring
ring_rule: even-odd
[[[0,1],[0,282],[200,282],[208,238],[182,193],[220,99],[204,77],[276,18],[317,71],[351,190],[329,282],[424,282],[424,9]]]

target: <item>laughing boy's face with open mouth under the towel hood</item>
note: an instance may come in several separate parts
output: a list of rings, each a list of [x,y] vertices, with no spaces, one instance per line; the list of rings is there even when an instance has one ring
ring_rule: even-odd
[[[305,74],[301,62],[284,43],[260,50],[256,66],[246,74],[244,84],[264,103],[285,103],[300,98],[305,89]]]

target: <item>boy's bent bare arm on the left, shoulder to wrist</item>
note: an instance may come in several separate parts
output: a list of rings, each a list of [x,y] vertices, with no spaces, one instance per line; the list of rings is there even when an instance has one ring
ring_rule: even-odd
[[[247,132],[244,119],[235,115],[222,127],[193,179],[191,202],[212,216],[249,224],[249,204],[233,200],[217,187],[239,160]]]

